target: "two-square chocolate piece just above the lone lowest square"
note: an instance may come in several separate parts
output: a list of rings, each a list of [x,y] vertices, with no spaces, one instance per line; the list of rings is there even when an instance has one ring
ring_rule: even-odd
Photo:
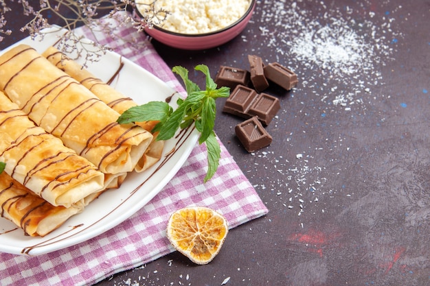
[[[280,107],[277,97],[266,93],[258,94],[252,88],[238,85],[225,101],[223,112],[246,119],[258,116],[258,119],[267,126]]]

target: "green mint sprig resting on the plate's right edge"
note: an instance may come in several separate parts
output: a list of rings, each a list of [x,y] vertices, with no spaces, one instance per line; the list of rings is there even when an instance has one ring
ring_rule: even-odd
[[[185,99],[177,99],[178,107],[175,110],[167,102],[148,102],[126,110],[117,122],[159,121],[152,129],[152,132],[159,132],[157,140],[171,139],[179,128],[185,129],[194,123],[200,132],[199,144],[205,143],[207,149],[207,173],[204,179],[204,182],[207,182],[218,169],[221,153],[214,132],[215,100],[218,97],[229,97],[230,88],[225,86],[217,88],[205,64],[199,64],[194,69],[205,74],[205,90],[202,91],[188,78],[187,69],[180,66],[173,67],[172,71],[182,78],[188,94]]]

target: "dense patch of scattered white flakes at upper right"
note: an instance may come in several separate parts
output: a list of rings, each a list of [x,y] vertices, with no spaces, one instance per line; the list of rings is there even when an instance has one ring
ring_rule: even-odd
[[[401,36],[392,29],[394,18],[383,15],[383,25],[375,25],[370,21],[375,12],[354,19],[353,10],[363,7],[327,7],[324,1],[259,4],[261,45],[273,47],[276,60],[298,75],[306,74],[300,77],[297,91],[313,88],[321,101],[341,110],[365,108],[372,100],[368,95],[383,81],[380,68],[392,60],[392,40]],[[312,14],[306,5],[317,7],[319,13]],[[267,28],[269,22],[276,28]],[[330,86],[321,86],[321,81]]]

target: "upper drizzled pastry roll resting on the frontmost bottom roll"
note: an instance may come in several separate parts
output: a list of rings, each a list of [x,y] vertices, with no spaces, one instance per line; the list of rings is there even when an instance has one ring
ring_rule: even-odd
[[[34,125],[0,92],[4,172],[54,206],[69,207],[104,187],[104,174],[56,136]]]

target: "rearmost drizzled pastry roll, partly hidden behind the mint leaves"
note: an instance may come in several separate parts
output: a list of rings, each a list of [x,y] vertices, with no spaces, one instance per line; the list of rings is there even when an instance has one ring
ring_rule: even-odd
[[[128,110],[128,108],[137,106],[133,99],[126,97],[120,93],[120,91],[117,91],[106,82],[100,80],[100,78],[95,77],[95,75],[90,73],[87,69],[84,69],[78,62],[71,60],[55,47],[49,47],[42,53],[42,56],[47,58],[47,60],[58,67],[58,69],[65,71],[65,73],[88,88],[95,96],[116,112],[122,114],[124,111]],[[145,121],[136,122],[136,125],[150,132],[157,123],[158,121]],[[146,154],[142,156],[135,167],[135,170],[138,172],[148,169],[148,167],[157,163],[161,158],[164,141],[156,141],[157,134],[152,135],[154,135],[154,139],[150,143]]]

